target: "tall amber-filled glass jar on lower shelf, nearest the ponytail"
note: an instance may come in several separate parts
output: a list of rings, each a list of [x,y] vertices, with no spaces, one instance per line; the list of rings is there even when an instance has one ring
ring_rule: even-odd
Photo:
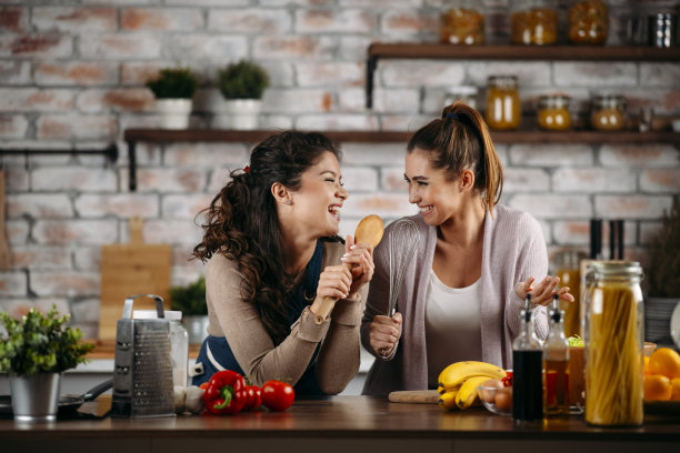
[[[491,129],[519,128],[522,117],[517,77],[490,76],[487,82],[487,124]]]

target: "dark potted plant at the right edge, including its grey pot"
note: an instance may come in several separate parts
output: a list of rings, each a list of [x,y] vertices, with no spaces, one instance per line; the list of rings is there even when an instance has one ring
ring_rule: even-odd
[[[672,344],[670,319],[680,302],[680,203],[666,212],[661,229],[649,248],[646,272],[648,298],[644,303],[646,340]]]

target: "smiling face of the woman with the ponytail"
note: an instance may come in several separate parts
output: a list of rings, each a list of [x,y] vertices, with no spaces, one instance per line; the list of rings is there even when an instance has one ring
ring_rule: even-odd
[[[407,153],[409,202],[418,205],[428,225],[438,226],[461,213],[461,179],[448,180],[444,170],[432,168],[429,154],[420,149]]]

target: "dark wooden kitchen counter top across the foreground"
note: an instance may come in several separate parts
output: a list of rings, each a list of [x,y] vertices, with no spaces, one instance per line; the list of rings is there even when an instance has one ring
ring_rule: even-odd
[[[81,411],[106,413],[110,396]],[[19,424],[0,420],[7,452],[677,452],[680,416],[646,416],[640,427],[588,426],[582,417],[514,424],[483,407],[444,412],[436,404],[390,403],[384,397],[297,400],[286,412],[237,416],[180,415],[154,419],[59,420]]]

